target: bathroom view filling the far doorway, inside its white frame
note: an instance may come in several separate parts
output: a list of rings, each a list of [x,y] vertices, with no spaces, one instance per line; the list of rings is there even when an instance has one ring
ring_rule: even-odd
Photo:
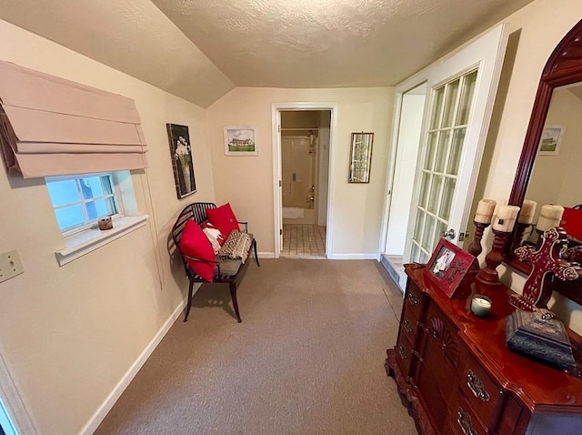
[[[281,249],[326,258],[331,110],[280,110]]]

